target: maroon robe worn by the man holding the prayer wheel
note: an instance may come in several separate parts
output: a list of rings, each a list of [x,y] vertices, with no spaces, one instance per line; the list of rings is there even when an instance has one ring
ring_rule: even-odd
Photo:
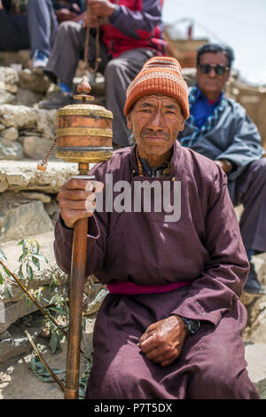
[[[113,174],[113,184],[154,181],[137,176],[134,148],[116,151],[92,171],[104,183],[106,174]],[[215,162],[177,142],[170,171],[159,181],[170,181],[171,190],[173,177],[181,181],[178,221],[166,222],[166,213],[154,211],[95,212],[90,218],[87,275],[94,273],[105,284],[187,280],[189,285],[160,294],[106,296],[94,330],[86,397],[259,398],[246,371],[241,339],[246,309],[239,296],[248,262],[226,176]],[[55,254],[66,273],[72,238],[73,231],[59,218]],[[187,336],[181,356],[162,367],[145,358],[137,342],[147,327],[171,314],[199,319],[201,326],[197,334]]]

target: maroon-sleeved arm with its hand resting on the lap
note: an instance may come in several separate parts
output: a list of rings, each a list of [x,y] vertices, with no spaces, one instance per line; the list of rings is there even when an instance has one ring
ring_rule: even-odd
[[[161,366],[176,360],[184,346],[187,333],[181,317],[216,326],[236,303],[246,282],[249,264],[222,169],[216,169],[209,199],[205,247],[209,261],[200,277],[192,281],[183,303],[169,318],[148,327],[140,338],[140,349]]]

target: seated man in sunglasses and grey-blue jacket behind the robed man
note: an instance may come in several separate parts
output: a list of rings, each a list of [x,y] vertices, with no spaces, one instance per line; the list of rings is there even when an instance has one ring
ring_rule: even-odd
[[[207,43],[198,51],[197,85],[189,91],[190,112],[178,139],[214,160],[228,177],[233,204],[243,204],[240,231],[250,263],[244,290],[262,295],[251,257],[266,251],[266,158],[260,134],[243,106],[226,98],[234,53],[230,47]]]

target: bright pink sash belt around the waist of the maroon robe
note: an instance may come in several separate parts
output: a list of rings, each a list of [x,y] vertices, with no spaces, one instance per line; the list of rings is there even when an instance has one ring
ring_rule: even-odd
[[[135,294],[149,294],[149,293],[166,293],[174,289],[189,286],[189,281],[173,282],[166,285],[137,285],[134,282],[115,282],[114,284],[107,284],[106,287],[111,294],[121,295],[135,295]]]

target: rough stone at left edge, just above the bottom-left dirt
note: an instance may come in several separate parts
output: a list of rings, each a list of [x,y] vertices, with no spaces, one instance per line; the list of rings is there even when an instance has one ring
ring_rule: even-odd
[[[28,328],[27,331],[35,342],[40,334],[40,329]],[[5,362],[7,359],[15,358],[22,353],[27,353],[30,350],[32,350],[32,345],[26,334],[15,326],[0,334],[0,363]]]

